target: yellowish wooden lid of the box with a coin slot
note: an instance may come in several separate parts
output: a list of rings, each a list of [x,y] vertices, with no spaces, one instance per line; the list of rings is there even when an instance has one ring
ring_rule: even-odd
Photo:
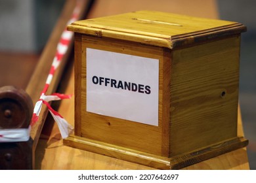
[[[246,30],[237,22],[213,20],[157,11],[137,11],[79,20],[68,30],[97,37],[177,48],[234,35]]]

